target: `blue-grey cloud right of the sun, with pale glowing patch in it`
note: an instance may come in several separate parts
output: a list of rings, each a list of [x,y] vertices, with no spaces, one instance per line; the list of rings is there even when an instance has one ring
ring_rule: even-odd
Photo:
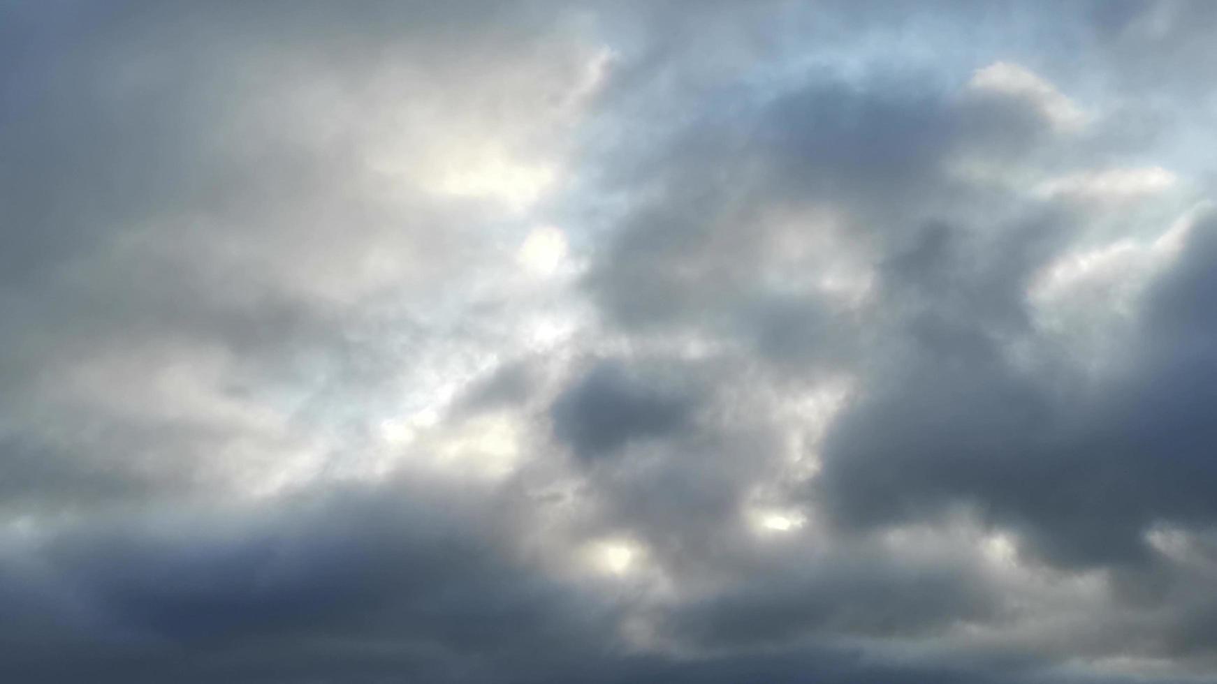
[[[835,261],[864,271],[899,259],[916,249],[922,226],[971,220],[998,200],[955,177],[950,164],[981,156],[1017,165],[1051,143],[1048,124],[1016,98],[952,98],[907,78],[859,85],[812,73],[758,103],[748,94],[708,98],[707,109],[722,114],[651,152],[640,173],[632,169],[628,182],[647,199],[588,276],[602,310],[632,327],[684,323],[755,337],[775,356],[808,335],[808,349],[849,344],[849,332],[837,333],[853,323],[840,305],[770,283],[812,279]],[[724,106],[735,97],[744,103]],[[1037,230],[989,239],[1008,241],[997,249],[1015,254],[1036,244],[1022,236]],[[997,264],[1019,265],[1034,262]],[[792,316],[779,321],[775,309]]]

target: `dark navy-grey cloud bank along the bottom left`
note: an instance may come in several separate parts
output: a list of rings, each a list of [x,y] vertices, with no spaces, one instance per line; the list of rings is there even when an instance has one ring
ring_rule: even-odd
[[[273,510],[75,526],[21,544],[38,572],[5,573],[18,593],[0,631],[16,646],[30,640],[27,621],[49,622],[33,639],[72,654],[65,677],[124,673],[145,658],[162,674],[257,677],[302,658],[323,663],[323,675],[349,662],[355,673],[370,665],[494,680],[494,663],[527,672],[576,657],[588,643],[577,634],[604,632],[613,609],[510,560],[511,501],[465,497],[398,484]],[[441,502],[462,503],[445,514]],[[43,657],[12,651],[0,669],[19,675]]]

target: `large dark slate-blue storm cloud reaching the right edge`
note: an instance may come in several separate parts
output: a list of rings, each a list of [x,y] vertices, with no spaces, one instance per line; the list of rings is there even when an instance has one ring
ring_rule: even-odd
[[[1098,386],[1030,375],[975,329],[959,332],[972,352],[920,344],[832,429],[824,501],[856,522],[966,502],[1061,563],[1144,561],[1155,521],[1211,525],[1212,234],[1211,219],[1193,227],[1145,299],[1132,368]]]

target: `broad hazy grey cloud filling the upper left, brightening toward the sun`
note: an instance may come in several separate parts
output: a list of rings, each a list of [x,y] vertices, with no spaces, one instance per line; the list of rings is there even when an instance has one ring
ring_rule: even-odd
[[[378,97],[369,74],[392,63],[383,51],[416,58],[424,81],[472,78],[492,55],[531,58],[523,41],[544,22],[282,9],[12,10],[0,430],[22,445],[6,465],[26,497],[71,493],[60,482],[80,469],[119,498],[225,479],[218,453],[270,435],[174,411],[170,385],[204,385],[215,408],[286,396],[273,408],[299,429],[433,345],[419,320],[437,275],[486,259],[466,232],[484,222],[475,203],[370,187],[361,121],[343,107]],[[433,34],[398,41],[422,23]],[[484,52],[455,58],[444,30],[483,35]],[[389,292],[398,304],[378,305]],[[63,388],[97,381],[113,384]]]

